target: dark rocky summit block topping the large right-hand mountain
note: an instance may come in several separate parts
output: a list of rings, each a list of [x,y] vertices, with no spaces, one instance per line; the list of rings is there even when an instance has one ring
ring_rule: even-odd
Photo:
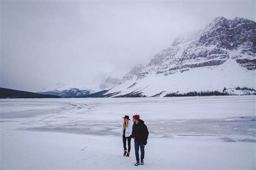
[[[245,18],[217,17],[208,26],[199,38],[200,45],[217,45],[228,50],[243,48],[243,52],[255,56],[255,29],[254,21]]]

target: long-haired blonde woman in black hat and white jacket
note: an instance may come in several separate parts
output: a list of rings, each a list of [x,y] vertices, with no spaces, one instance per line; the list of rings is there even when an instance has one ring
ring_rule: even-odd
[[[124,123],[122,125],[122,135],[123,135],[123,145],[124,145],[124,157],[129,157],[131,151],[131,135],[132,135],[132,125],[129,122],[129,116],[125,115]],[[128,141],[128,151],[126,148],[126,140]]]

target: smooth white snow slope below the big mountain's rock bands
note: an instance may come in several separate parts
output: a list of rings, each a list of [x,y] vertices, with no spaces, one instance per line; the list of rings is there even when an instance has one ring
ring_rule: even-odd
[[[133,79],[134,80],[134,79]],[[177,72],[170,76],[164,74],[150,74],[136,81],[136,85],[126,88],[133,81],[127,81],[113,91],[122,91],[118,95],[134,92],[143,92],[145,96],[154,96],[161,92],[164,96],[169,92],[191,92],[191,91],[223,91],[224,87],[235,89],[235,87],[255,87],[255,72],[247,71],[233,59],[227,60],[221,66],[198,67],[186,72]]]

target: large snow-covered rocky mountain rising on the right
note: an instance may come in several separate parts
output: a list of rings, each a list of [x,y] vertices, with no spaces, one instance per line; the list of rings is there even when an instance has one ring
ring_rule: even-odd
[[[112,97],[220,91],[255,93],[256,23],[217,17],[190,38],[174,39],[146,65],[136,66],[105,93]],[[245,88],[242,88],[245,87]]]

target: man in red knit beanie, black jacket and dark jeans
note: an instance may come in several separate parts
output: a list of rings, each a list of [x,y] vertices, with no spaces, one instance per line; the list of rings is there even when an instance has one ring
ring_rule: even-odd
[[[149,131],[147,131],[147,126],[144,124],[144,121],[139,119],[139,114],[133,115],[132,117],[133,126],[132,126],[132,138],[134,138],[134,148],[136,155],[136,164],[144,165],[144,148],[147,144],[147,137],[149,137]],[[139,147],[140,147],[140,163],[139,163]]]

